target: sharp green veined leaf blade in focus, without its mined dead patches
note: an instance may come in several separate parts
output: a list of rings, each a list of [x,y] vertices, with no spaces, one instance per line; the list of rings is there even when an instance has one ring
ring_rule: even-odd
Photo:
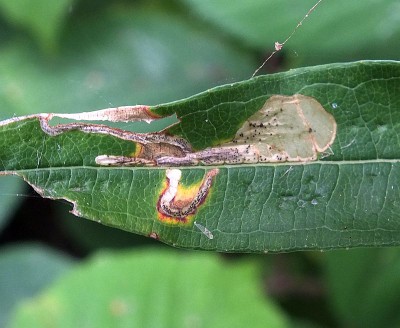
[[[180,247],[277,252],[399,245],[399,87],[399,63],[358,62],[260,76],[152,107],[154,114],[175,113],[180,122],[168,131],[196,149],[234,137],[237,124],[277,94],[313,97],[337,123],[332,154],[317,161],[220,165],[187,220],[160,216],[165,168],[96,165],[99,155],[135,152],[133,142],[108,135],[49,136],[35,118],[3,125],[2,170],[44,197],[70,200],[77,215]],[[182,188],[210,172],[180,169]]]

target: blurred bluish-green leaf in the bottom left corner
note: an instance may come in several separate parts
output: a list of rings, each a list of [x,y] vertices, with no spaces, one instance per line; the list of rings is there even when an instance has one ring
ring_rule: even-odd
[[[5,327],[12,309],[35,296],[71,267],[66,256],[46,247],[27,244],[0,252],[0,326]]]

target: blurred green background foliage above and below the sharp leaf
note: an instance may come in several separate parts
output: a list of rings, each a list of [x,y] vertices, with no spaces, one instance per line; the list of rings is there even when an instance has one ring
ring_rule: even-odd
[[[0,119],[247,79],[315,2],[0,0]],[[399,13],[398,0],[325,0],[261,73],[398,60]],[[400,326],[398,249],[173,250],[69,210],[0,178],[0,327]]]

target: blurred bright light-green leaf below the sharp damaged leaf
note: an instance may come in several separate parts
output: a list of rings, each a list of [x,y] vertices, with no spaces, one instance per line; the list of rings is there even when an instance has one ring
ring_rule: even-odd
[[[21,306],[11,327],[287,327],[257,273],[212,254],[100,254]]]

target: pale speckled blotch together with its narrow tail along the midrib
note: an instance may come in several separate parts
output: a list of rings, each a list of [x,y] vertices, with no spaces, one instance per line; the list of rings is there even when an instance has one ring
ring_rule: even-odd
[[[180,151],[176,142],[177,148],[143,158],[151,157],[157,166],[314,161],[330,148],[336,129],[333,116],[314,98],[272,96],[239,128],[231,142],[198,152]],[[130,164],[127,159],[123,161]],[[104,164],[102,160],[97,163]]]

